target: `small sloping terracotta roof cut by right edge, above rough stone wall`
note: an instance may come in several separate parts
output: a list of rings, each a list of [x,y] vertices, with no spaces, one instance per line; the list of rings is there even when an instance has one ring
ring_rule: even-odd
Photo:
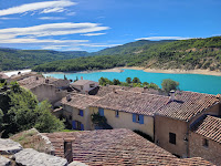
[[[219,117],[208,115],[191,126],[191,131],[214,142],[221,143],[221,118]]]

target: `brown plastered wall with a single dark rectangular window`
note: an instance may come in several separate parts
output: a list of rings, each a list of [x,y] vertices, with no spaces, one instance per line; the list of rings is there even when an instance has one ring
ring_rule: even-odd
[[[185,141],[188,132],[187,128],[187,122],[156,115],[155,143],[175,155],[187,157],[188,142]],[[169,133],[176,134],[176,145],[169,143]]]

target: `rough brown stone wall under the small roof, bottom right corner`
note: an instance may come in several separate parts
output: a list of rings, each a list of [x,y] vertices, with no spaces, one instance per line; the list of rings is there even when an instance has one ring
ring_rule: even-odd
[[[190,157],[202,157],[215,165],[221,165],[221,144],[209,139],[209,146],[204,147],[202,135],[191,132],[189,139]]]

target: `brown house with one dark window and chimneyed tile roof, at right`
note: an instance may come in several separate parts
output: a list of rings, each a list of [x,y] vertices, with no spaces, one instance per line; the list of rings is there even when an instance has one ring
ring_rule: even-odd
[[[179,157],[190,157],[190,126],[204,114],[220,115],[219,97],[194,92],[177,93],[155,115],[155,143]]]

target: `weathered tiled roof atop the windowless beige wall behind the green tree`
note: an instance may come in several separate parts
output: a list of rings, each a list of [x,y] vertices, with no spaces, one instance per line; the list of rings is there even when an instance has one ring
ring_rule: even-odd
[[[44,79],[44,77],[39,77],[39,76],[29,76],[29,77],[25,77],[23,80],[18,81],[18,83],[21,86],[31,90],[31,89],[34,89],[34,87],[41,85],[41,84],[46,84],[45,80],[49,80],[48,84],[53,84],[59,79],[54,79],[54,77],[46,77],[46,79]]]

